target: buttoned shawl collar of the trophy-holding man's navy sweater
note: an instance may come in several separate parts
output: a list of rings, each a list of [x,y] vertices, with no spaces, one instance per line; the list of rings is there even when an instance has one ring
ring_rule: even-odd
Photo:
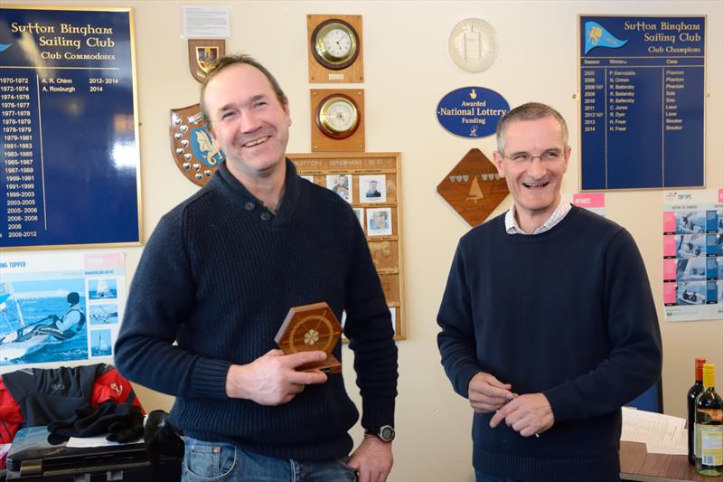
[[[228,196],[234,203],[238,203],[241,209],[247,213],[258,216],[265,222],[271,222],[274,227],[286,226],[296,210],[301,195],[299,176],[296,174],[296,165],[286,158],[286,178],[284,179],[284,194],[278,206],[276,214],[272,213],[261,203],[260,200],[243,185],[229,171],[226,163],[221,163],[216,174],[211,178],[211,187],[217,189],[221,194]],[[270,216],[270,217],[269,217]]]

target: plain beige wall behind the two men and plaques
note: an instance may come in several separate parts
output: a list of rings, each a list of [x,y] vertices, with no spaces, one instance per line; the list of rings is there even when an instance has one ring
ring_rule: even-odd
[[[105,2],[16,2],[23,5],[103,5]],[[402,153],[408,339],[399,342],[398,439],[392,481],[467,481],[471,468],[472,411],[455,395],[439,364],[435,317],[457,239],[469,226],[436,193],[437,184],[472,147],[492,155],[493,137],[454,137],[437,124],[437,102],[450,90],[476,85],[496,90],[511,106],[540,100],[555,106],[571,127],[573,156],[563,191],[577,192],[577,14],[707,14],[707,165],[709,187],[723,186],[723,4],[715,1],[118,1],[136,18],[138,121],[143,220],[147,239],[160,216],[195,192],[169,152],[169,109],[197,102],[181,37],[181,5],[230,5],[229,52],[249,52],[274,72],[290,99],[294,125],[289,152],[310,150],[306,14],[362,14],[367,151]],[[493,24],[500,55],[493,67],[470,74],[455,67],[447,37],[466,17]],[[507,199],[496,213],[511,203]],[[665,411],[684,416],[693,358],[705,355],[723,372],[723,322],[665,323],[662,316],[662,193],[609,193],[606,215],[633,233],[643,251],[661,318]],[[123,249],[128,280],[142,248]],[[520,297],[525,293],[521,292]],[[352,354],[344,348],[344,375],[353,384]],[[146,409],[170,397],[138,389]],[[354,436],[359,439],[357,426]]]

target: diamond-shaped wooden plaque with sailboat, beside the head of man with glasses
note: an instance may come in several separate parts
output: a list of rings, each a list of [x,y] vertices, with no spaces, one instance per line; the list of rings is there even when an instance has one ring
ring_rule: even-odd
[[[479,149],[470,149],[437,184],[437,193],[471,226],[482,224],[510,191],[497,168]]]

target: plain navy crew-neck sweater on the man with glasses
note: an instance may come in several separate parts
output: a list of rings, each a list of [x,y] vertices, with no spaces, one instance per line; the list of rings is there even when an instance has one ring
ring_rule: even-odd
[[[437,317],[442,364],[467,397],[475,373],[544,393],[555,417],[524,438],[475,413],[474,467],[521,480],[619,474],[620,407],[661,375],[660,328],[633,238],[573,207],[549,232],[510,235],[504,215],[460,241]]]

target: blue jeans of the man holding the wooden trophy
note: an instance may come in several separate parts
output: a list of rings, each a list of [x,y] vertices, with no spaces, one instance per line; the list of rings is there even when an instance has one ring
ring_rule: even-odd
[[[232,443],[185,437],[183,482],[356,482],[348,458],[303,461],[274,458]]]

